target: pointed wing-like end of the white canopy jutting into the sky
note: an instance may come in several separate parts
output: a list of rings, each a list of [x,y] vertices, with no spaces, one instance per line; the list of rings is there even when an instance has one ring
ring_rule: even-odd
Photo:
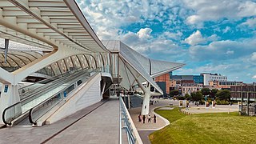
[[[163,62],[146,58],[137,51],[131,49],[120,41],[102,41],[108,50],[111,51],[114,74],[122,76],[121,86],[129,90],[139,82],[149,82],[160,93],[162,90],[154,82],[153,78],[158,75],[177,70],[185,64],[177,62]]]

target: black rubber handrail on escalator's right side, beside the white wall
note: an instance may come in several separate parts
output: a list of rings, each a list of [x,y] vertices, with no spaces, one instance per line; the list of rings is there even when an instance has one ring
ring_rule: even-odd
[[[93,71],[91,71],[91,72],[96,72],[96,74],[98,74],[96,69],[93,70]],[[91,72],[90,72],[90,73],[91,73]],[[92,76],[92,77],[93,77],[93,76]],[[82,83],[83,83],[83,82],[87,82],[87,81],[82,81]],[[30,113],[29,113],[29,121],[30,121],[30,123],[32,123],[32,124],[34,124],[34,125],[37,125],[38,119],[39,119],[39,118],[42,118],[42,116],[43,116],[44,114],[46,114],[46,112],[49,111],[49,110],[46,110],[46,112],[43,113],[39,118],[37,118],[37,120],[33,121],[33,116],[32,116],[32,115],[33,115],[33,111],[34,111],[35,109],[37,109],[39,106],[42,106],[44,103],[50,101],[50,99],[54,98],[54,97],[56,96],[56,94],[62,93],[63,91],[66,90],[66,88],[68,88],[68,87],[70,87],[70,86],[72,86],[72,85],[74,85],[74,83],[71,83],[69,86],[66,86],[66,87],[63,88],[62,90],[60,90],[60,91],[56,92],[55,94],[53,94],[50,98],[47,98],[45,101],[43,101],[43,102],[39,103],[37,106],[34,106],[33,108],[31,108],[31,109],[30,109]],[[79,85],[79,86],[81,86],[81,85]],[[72,91],[73,91],[73,90],[72,90]],[[64,98],[62,98],[59,102],[61,102],[63,99],[64,99]],[[55,103],[54,106],[56,106],[59,102]],[[53,106],[52,106],[52,107],[53,107]]]

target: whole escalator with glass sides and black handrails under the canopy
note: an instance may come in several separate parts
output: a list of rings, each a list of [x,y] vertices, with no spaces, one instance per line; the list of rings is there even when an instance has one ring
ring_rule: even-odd
[[[36,120],[65,99],[68,94],[90,78],[96,70],[77,70],[26,86],[21,92],[21,101],[7,107],[2,114],[6,125],[31,126]]]

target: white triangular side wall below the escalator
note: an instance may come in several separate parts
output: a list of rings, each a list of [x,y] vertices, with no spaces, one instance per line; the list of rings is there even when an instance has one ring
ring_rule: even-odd
[[[74,90],[67,97],[66,102],[62,106],[57,106],[58,110],[46,120],[46,124],[57,122],[62,118],[66,118],[70,114],[74,114],[78,110],[82,110],[87,106],[91,106],[101,101],[102,95],[100,90],[101,74],[97,74],[82,84],[78,90]],[[55,108],[56,109],[56,108]]]

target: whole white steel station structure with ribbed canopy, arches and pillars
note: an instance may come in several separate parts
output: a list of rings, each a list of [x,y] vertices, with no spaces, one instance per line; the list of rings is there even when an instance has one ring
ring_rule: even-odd
[[[142,114],[148,114],[148,88],[162,93],[152,78],[184,66],[151,60],[119,41],[105,41],[106,49],[74,0],[2,0],[0,8],[0,114],[20,102],[18,82],[30,74],[45,69],[43,74],[52,76],[103,66],[111,66],[111,74],[122,77],[120,85],[127,90],[142,88]]]

